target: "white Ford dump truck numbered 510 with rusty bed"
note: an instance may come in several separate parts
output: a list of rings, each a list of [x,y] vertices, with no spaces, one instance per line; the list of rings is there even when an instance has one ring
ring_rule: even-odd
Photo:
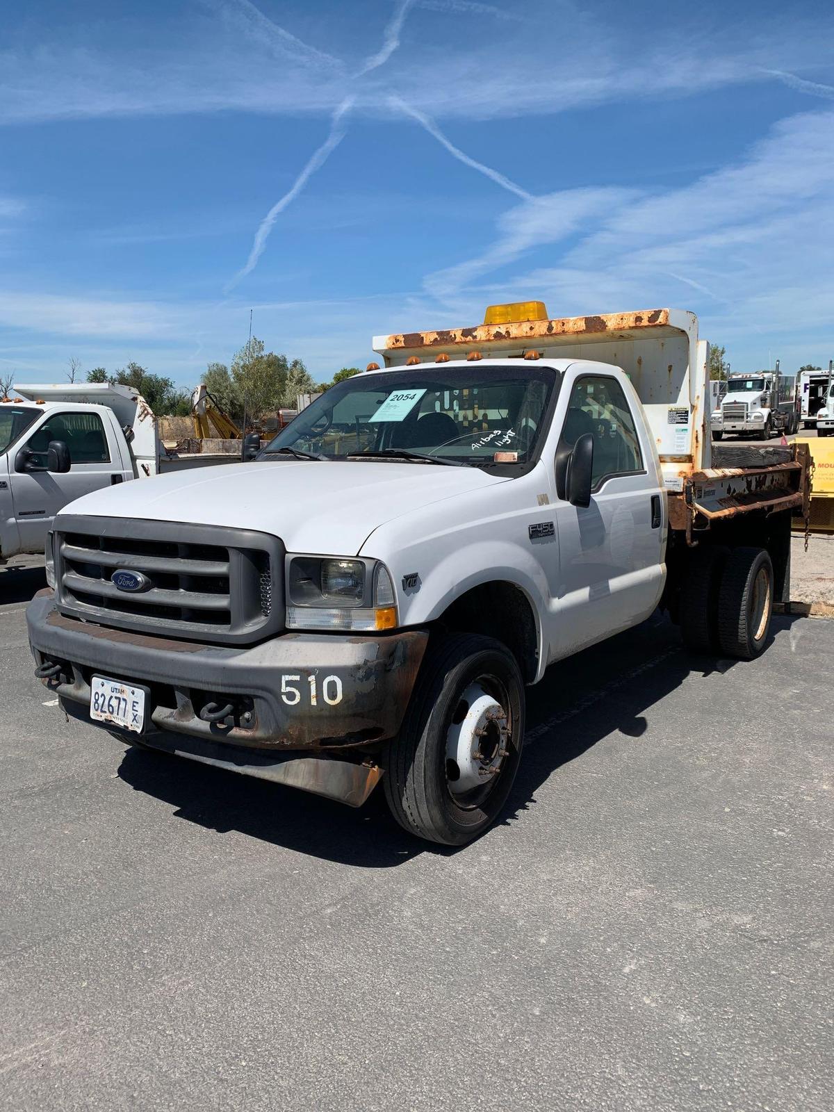
[[[689,312],[525,302],[375,348],[251,463],[64,507],[36,675],[123,742],[355,806],[381,781],[463,844],[555,661],[658,605],[696,652],[764,649],[806,449],[711,468]]]

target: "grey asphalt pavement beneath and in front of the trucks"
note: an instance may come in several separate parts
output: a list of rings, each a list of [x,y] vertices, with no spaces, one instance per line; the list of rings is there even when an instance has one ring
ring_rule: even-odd
[[[504,822],[444,851],[67,722],[42,582],[0,572],[0,1106],[831,1108],[834,620],[553,667]]]

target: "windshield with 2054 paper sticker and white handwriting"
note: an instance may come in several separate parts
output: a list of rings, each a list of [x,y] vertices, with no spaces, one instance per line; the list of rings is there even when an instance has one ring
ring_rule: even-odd
[[[555,381],[549,368],[528,366],[355,375],[302,409],[265,456],[280,449],[327,459],[401,453],[478,467],[522,467],[543,433]]]

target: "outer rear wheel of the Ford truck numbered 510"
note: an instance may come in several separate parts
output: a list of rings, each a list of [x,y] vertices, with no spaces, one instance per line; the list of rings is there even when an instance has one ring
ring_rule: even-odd
[[[718,642],[727,656],[752,661],[773,616],[773,564],[764,548],[731,548],[718,590]]]

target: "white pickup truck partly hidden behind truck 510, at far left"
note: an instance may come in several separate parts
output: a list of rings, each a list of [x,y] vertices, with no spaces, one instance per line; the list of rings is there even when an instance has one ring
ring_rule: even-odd
[[[42,553],[54,515],[82,495],[208,463],[167,458],[150,406],[130,387],[14,386],[0,401],[0,565]]]

